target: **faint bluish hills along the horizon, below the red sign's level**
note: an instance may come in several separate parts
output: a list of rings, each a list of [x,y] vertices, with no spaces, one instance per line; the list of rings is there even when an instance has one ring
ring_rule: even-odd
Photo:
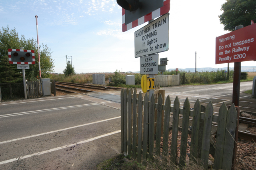
[[[169,68],[168,70],[175,70],[176,68]],[[196,68],[196,71],[198,72],[204,72],[204,71],[216,71],[216,70],[227,70],[228,67],[223,68],[212,68],[212,67],[202,67],[202,68]],[[230,67],[230,69],[234,69],[233,67]],[[185,70],[186,72],[195,72],[195,68],[179,68],[179,70]],[[241,66],[241,71],[246,72],[256,72],[256,66]]]

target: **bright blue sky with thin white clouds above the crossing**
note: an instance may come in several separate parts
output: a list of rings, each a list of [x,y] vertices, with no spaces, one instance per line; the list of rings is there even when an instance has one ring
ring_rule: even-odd
[[[159,53],[169,60],[166,69],[195,68],[195,52],[197,68],[227,67],[215,64],[216,37],[229,33],[218,18],[225,2],[170,1],[169,50]],[[76,73],[140,70],[134,32],[147,23],[122,32],[122,8],[116,0],[0,0],[0,29],[9,25],[26,39],[36,39],[36,15],[39,44],[52,51],[55,73],[63,73],[66,56],[72,56]]]

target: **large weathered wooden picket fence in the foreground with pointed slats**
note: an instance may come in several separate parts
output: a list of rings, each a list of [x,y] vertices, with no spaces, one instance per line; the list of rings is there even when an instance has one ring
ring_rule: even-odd
[[[218,123],[216,150],[214,156],[214,169],[230,170],[232,167],[232,156],[234,147],[234,136],[237,125],[237,111],[232,104],[230,109],[223,103],[219,109],[219,116],[213,115],[212,102],[206,107],[205,113],[201,112],[199,100],[194,105],[194,110],[190,110],[188,98],[185,100],[183,109],[180,108],[180,102],[176,97],[173,106],[171,106],[170,97],[164,100],[164,90],[158,90],[156,95],[152,95],[150,101],[148,94],[136,93],[130,90],[121,92],[121,150],[125,155],[137,158],[138,162],[143,160],[152,161],[154,156],[166,156],[174,165],[179,168],[185,167],[188,142],[188,121],[193,117],[192,135],[190,145],[189,162],[198,161],[200,156],[201,165],[205,169],[208,167],[210,139],[212,121]],[[136,96],[136,97],[133,97]],[[156,97],[158,99],[156,100]],[[144,100],[143,100],[144,99]],[[179,162],[177,160],[177,138],[178,138],[178,119],[182,115],[182,135],[180,145]],[[173,116],[172,122],[172,145],[168,146],[170,115]],[[204,121],[202,133],[202,147],[198,149],[198,132],[200,119]],[[135,120],[135,121],[134,121]],[[161,137],[163,137],[161,145]],[[154,140],[155,139],[155,140]],[[143,142],[142,142],[143,141]],[[162,147],[162,151],[161,148]],[[198,153],[198,150],[201,150]],[[199,155],[200,154],[200,155]]]

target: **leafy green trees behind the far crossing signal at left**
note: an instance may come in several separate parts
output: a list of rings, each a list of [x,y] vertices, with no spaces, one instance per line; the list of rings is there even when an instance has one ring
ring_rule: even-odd
[[[23,49],[35,51],[35,63],[30,64],[30,69],[25,70],[26,79],[36,80],[39,77],[37,41],[26,39],[24,35],[19,37],[16,29],[9,29],[9,26],[0,29],[0,83],[22,82],[22,70],[17,69],[16,64],[9,64],[8,49]],[[49,78],[53,71],[54,62],[51,59],[52,52],[47,45],[40,46],[40,65],[42,78]]]

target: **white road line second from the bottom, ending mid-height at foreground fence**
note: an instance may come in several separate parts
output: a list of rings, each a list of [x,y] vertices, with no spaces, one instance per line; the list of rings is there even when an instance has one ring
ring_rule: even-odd
[[[41,136],[41,135],[46,135],[46,134],[50,134],[50,133],[55,133],[55,132],[59,132],[59,131],[65,131],[65,130],[74,129],[74,128],[77,128],[77,127],[92,125],[92,124],[95,124],[95,123],[100,123],[100,122],[104,122],[104,121],[118,119],[120,117],[121,116],[113,117],[113,118],[110,118],[110,119],[104,119],[104,120],[100,120],[100,121],[95,121],[95,122],[92,122],[92,123],[86,123],[86,124],[83,124],[83,125],[77,125],[77,126],[73,126],[73,127],[68,127],[68,128],[65,128],[65,129],[59,129],[59,130],[56,130],[56,131],[50,131],[50,132],[40,133],[40,134],[31,135],[31,136],[27,136],[27,137],[22,137],[22,138],[18,138],[18,139],[12,139],[12,140],[9,140],[9,141],[3,141],[3,142],[0,142],[0,144],[9,143],[9,142],[13,142],[13,141],[19,141],[19,140],[22,140],[22,139],[28,139],[28,138],[37,137],[37,136]]]

